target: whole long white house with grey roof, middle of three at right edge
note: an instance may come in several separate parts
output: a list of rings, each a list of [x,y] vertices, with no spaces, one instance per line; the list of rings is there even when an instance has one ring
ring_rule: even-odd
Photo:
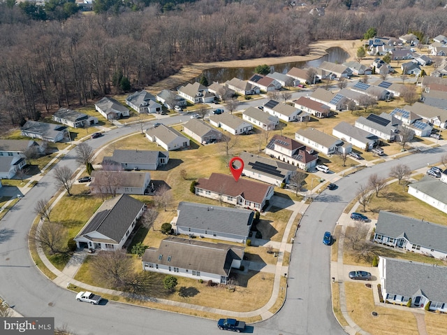
[[[424,219],[380,211],[373,241],[438,259],[447,257],[447,226]]]

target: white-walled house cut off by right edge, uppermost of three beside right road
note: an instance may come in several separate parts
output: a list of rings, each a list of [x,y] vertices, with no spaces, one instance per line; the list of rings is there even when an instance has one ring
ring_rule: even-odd
[[[447,213],[447,184],[430,176],[423,176],[408,185],[408,193],[426,204]]]

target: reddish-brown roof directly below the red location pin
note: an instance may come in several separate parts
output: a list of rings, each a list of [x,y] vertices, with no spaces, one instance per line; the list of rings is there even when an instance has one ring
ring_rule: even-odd
[[[229,195],[230,197],[243,197],[247,201],[261,204],[272,186],[256,181],[239,178],[222,173],[212,173],[210,178],[199,178],[196,187],[203,190]]]

